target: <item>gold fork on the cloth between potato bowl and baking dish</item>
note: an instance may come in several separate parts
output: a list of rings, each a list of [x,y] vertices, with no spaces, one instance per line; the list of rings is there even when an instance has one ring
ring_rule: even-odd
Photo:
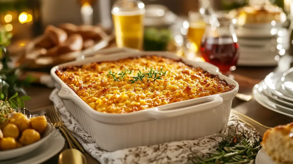
[[[68,146],[70,149],[78,149],[82,153],[84,153],[84,149],[82,148],[81,144],[71,135],[69,130],[64,126],[64,122],[61,119],[60,113],[57,109],[51,108],[50,115],[52,119],[52,123],[54,127],[59,128],[62,134],[64,135],[65,139],[68,142]]]

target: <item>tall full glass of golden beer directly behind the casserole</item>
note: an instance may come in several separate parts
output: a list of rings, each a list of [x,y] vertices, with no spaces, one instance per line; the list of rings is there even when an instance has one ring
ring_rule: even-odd
[[[112,8],[117,47],[142,49],[144,36],[144,3],[117,0]]]

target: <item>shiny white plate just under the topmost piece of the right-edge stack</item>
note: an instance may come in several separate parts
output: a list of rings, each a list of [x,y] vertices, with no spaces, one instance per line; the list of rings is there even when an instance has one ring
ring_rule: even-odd
[[[285,86],[281,81],[282,73],[271,72],[265,77],[265,84],[272,94],[282,99],[293,102],[289,93],[285,90]]]

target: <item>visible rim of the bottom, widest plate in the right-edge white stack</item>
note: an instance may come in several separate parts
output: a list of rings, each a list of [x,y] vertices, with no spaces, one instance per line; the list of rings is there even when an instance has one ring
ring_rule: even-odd
[[[280,106],[276,106],[276,103],[270,101],[266,96],[264,96],[262,92],[263,88],[260,84],[256,84],[252,89],[252,95],[255,101],[257,101],[260,105],[288,117],[293,118],[293,113],[289,114],[288,111]],[[290,111],[289,111],[290,112]]]

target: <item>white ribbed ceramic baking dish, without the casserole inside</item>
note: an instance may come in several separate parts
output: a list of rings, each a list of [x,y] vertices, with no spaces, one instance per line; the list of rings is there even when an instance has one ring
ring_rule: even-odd
[[[213,75],[219,75],[220,79],[235,85],[235,88],[221,94],[166,104],[133,113],[100,113],[88,106],[55,74],[56,69],[66,66],[148,55],[182,59],[188,65],[201,67]],[[239,89],[238,83],[219,73],[216,66],[205,62],[190,61],[169,52],[127,52],[86,58],[82,61],[57,65],[51,69],[51,75],[56,82],[56,87],[60,89],[58,95],[64,100],[66,109],[106,151],[190,140],[217,133],[227,125],[232,99]]]

